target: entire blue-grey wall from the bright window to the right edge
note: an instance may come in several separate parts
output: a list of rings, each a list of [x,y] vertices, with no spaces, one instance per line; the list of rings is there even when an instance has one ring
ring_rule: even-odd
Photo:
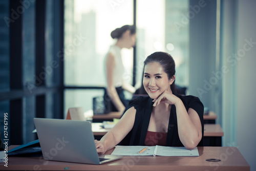
[[[189,19],[189,94],[202,95],[200,99],[217,113],[217,123],[223,127],[223,146],[238,146],[251,170],[256,170],[256,1],[220,1],[219,68],[215,51],[217,2],[205,1],[206,5]],[[189,3],[190,10],[199,5],[194,0]],[[220,79],[216,74],[219,71]],[[211,84],[214,77],[218,78],[217,83]]]

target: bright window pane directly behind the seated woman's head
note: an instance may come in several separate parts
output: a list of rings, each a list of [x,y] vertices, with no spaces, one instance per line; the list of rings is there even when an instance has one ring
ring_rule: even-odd
[[[137,55],[136,82],[141,84],[143,61],[156,52],[164,51],[173,56],[176,63],[176,84],[188,86],[188,23],[177,27],[188,11],[185,1],[137,1]],[[181,22],[180,22],[181,23]]]

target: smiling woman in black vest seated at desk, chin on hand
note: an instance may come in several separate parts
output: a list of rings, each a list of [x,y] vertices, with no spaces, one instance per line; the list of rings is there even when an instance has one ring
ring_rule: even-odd
[[[98,153],[103,154],[118,143],[187,149],[202,146],[204,106],[195,96],[176,94],[172,56],[155,52],[145,59],[143,86],[149,97],[130,102],[113,129],[95,141]]]

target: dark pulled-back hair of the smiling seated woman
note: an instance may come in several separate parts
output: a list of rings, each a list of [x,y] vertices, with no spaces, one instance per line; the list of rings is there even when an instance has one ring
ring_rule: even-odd
[[[147,63],[151,63],[151,62],[158,62],[163,68],[163,71],[167,74],[168,79],[172,78],[175,75],[175,61],[173,57],[168,53],[155,52],[155,53],[152,53],[150,56],[147,56],[147,58],[144,61],[144,68],[145,68],[145,65],[147,65]],[[170,85],[170,89],[174,94],[177,94],[175,80],[172,83],[172,85]]]

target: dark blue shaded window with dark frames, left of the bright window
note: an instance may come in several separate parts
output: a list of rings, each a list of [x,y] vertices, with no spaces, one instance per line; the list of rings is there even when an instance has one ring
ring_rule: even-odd
[[[0,133],[23,144],[36,138],[34,117],[63,117],[63,1],[0,1],[0,16]]]

